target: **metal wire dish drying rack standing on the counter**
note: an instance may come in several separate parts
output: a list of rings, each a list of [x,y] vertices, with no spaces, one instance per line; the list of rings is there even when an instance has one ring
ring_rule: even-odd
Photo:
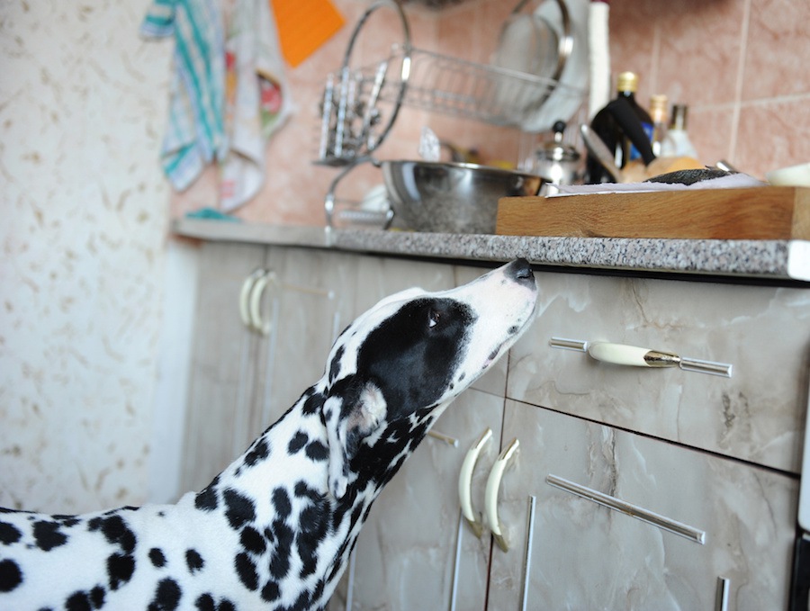
[[[518,12],[527,0],[514,9]],[[568,29],[565,4],[560,2],[564,27]],[[363,67],[350,67],[356,39],[369,16],[379,8],[392,8],[399,16],[402,43],[391,47],[388,58]],[[461,58],[417,49],[410,44],[410,25],[397,0],[377,0],[356,24],[348,42],[342,67],[326,78],[320,105],[320,142],[316,163],[338,166],[338,173],[325,198],[327,223],[333,227],[335,190],[356,165],[375,163],[373,153],[392,129],[402,106],[438,112],[457,118],[482,121],[499,127],[527,130],[527,123],[554,94],[581,99],[581,88],[559,82],[572,40],[561,41],[560,56],[552,77],[489,66]],[[383,108],[383,104],[390,110]],[[364,211],[347,212],[346,220],[378,224],[379,216]],[[386,217],[390,222],[390,215]]]

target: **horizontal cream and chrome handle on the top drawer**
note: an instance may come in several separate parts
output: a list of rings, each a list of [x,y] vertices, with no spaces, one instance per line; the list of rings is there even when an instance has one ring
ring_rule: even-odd
[[[587,342],[581,339],[552,337],[549,346],[588,353],[603,363],[629,365],[632,367],[680,367],[687,372],[711,373],[725,378],[732,376],[733,365],[687,358],[665,350],[652,350],[641,346],[628,346],[612,342]]]

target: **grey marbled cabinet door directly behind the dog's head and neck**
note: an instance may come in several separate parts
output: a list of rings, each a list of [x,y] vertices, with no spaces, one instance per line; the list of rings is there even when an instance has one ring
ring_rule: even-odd
[[[356,271],[360,313],[392,292],[411,286],[444,290],[486,270],[363,257]],[[383,490],[357,541],[353,571],[330,610],[347,608],[348,602],[355,611],[483,610],[491,538],[478,539],[461,522],[458,476],[467,450],[490,427],[493,440],[473,477],[473,505],[482,510],[487,473],[500,440],[505,383],[504,363],[465,391],[433,427],[458,444],[428,436]]]

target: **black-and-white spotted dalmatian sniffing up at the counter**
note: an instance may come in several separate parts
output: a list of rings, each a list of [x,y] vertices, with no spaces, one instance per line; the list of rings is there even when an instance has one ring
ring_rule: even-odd
[[[374,499],[526,330],[536,292],[518,259],[383,299],[281,419],[176,505],[0,511],[0,609],[323,609]]]

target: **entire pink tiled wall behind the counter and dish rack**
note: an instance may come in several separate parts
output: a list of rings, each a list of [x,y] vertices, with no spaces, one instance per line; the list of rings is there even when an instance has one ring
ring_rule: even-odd
[[[317,106],[323,77],[340,65],[348,37],[365,0],[337,0],[347,26],[290,70],[299,112],[270,143],[263,192],[239,215],[247,220],[319,225],[322,201],[334,168],[311,165],[317,150]],[[494,49],[511,2],[467,0],[431,13],[409,7],[414,44],[485,62]],[[634,70],[641,78],[639,100],[668,94],[688,103],[689,131],[701,160],[734,163],[752,175],[810,159],[810,3],[806,0],[639,0],[610,5],[612,71]],[[382,13],[382,12],[381,12]],[[401,40],[392,15],[374,40],[361,47],[365,58],[382,58]],[[376,27],[376,26],[375,26]],[[371,38],[371,37],[370,37]],[[375,53],[376,52],[376,56]],[[482,148],[486,157],[517,159],[512,130],[490,130],[471,121],[448,121],[408,110],[401,113],[381,157],[416,157],[419,129],[438,126],[441,136]],[[351,181],[354,197],[379,182],[373,171]],[[175,196],[175,214],[216,202],[215,174]],[[344,187],[349,190],[349,187]]]

